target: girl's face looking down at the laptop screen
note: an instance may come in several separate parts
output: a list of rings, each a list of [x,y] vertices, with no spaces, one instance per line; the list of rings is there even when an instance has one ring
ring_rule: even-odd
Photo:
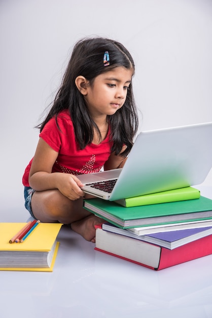
[[[113,115],[123,106],[132,74],[133,70],[117,67],[98,75],[93,84],[87,86],[85,100],[93,118]]]

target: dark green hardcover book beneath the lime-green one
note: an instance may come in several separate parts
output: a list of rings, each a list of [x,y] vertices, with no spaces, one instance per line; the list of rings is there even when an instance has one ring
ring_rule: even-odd
[[[125,208],[99,198],[84,200],[84,208],[120,228],[212,219],[212,200],[199,199]]]

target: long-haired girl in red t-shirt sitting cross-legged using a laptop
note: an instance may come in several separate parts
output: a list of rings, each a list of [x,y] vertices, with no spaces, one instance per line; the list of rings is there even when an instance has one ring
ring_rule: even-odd
[[[25,207],[95,242],[101,219],[83,208],[82,173],[123,167],[137,131],[134,62],[119,42],[88,38],[75,46],[23,175]]]

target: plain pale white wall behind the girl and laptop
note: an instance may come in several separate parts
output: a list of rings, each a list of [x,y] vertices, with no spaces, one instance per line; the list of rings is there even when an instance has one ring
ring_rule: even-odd
[[[212,1],[1,0],[1,213],[23,207],[33,127],[74,43],[95,35],[122,42],[134,58],[140,130],[212,121]]]

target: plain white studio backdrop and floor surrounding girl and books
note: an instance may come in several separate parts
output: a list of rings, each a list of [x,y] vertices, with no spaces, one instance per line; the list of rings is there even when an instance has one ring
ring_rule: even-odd
[[[212,0],[0,0],[0,221],[29,217],[21,179],[38,142],[33,127],[77,40],[110,37],[129,49],[141,130],[207,122],[211,18]],[[210,172],[200,190],[212,199],[211,185]],[[211,318],[212,256],[156,272],[68,230],[53,273],[0,272],[2,317]]]

